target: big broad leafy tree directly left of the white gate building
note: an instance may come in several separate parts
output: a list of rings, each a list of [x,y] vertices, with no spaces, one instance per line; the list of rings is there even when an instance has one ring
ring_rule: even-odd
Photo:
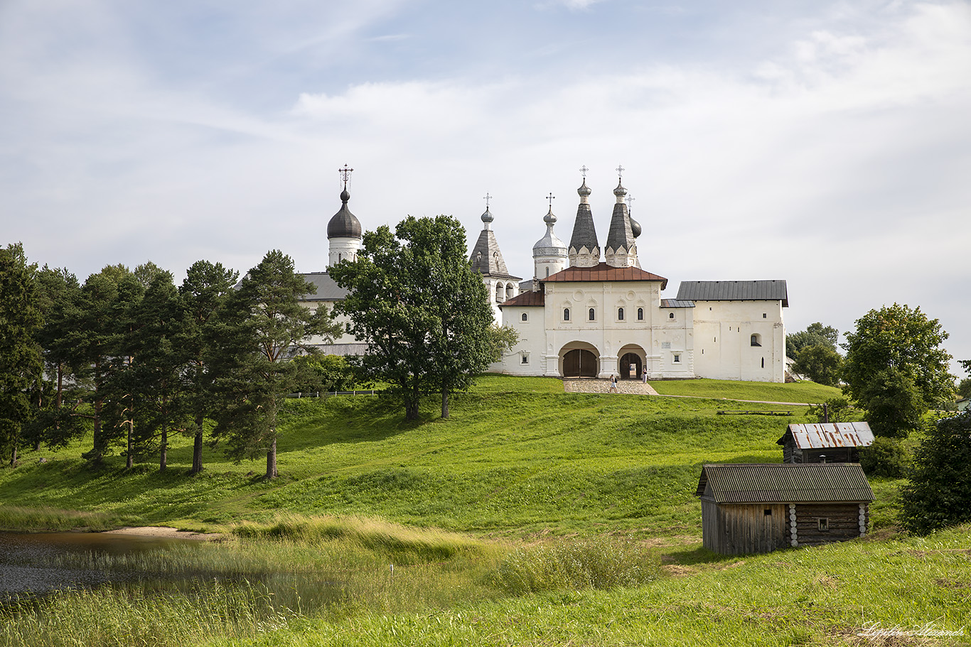
[[[367,340],[357,360],[362,377],[388,384],[408,420],[419,418],[423,392],[449,395],[472,383],[508,340],[489,333],[492,310],[481,276],[465,258],[465,230],[452,216],[409,216],[394,234],[364,234],[353,262],[330,269],[351,293],[338,306],[348,332]],[[508,333],[504,333],[508,338]]]

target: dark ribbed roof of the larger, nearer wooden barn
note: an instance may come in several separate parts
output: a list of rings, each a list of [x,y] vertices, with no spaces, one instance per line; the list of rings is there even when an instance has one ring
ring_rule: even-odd
[[[718,503],[873,501],[866,475],[855,463],[706,465],[695,496],[702,496],[706,485]]]

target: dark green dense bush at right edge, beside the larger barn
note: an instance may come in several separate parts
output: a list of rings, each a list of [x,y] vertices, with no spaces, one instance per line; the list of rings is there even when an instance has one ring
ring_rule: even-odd
[[[971,520],[971,412],[939,420],[928,430],[900,499],[900,520],[912,533]]]

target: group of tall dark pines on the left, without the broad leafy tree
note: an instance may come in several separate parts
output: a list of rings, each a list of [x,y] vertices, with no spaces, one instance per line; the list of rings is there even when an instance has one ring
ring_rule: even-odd
[[[180,433],[194,438],[193,473],[209,437],[235,458],[265,451],[275,476],[282,399],[319,381],[313,362],[290,360],[341,330],[327,308],[300,305],[314,286],[279,250],[238,279],[201,260],[178,286],[151,262],[82,283],[29,263],[20,244],[0,249],[0,447],[11,463],[24,446],[90,433],[92,465],[120,444],[128,468],[151,452],[166,469]]]

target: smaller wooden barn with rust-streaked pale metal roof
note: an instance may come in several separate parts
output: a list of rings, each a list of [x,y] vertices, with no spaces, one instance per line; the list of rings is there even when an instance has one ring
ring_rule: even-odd
[[[873,432],[865,422],[789,425],[776,442],[783,463],[859,463],[859,448],[873,444]]]

